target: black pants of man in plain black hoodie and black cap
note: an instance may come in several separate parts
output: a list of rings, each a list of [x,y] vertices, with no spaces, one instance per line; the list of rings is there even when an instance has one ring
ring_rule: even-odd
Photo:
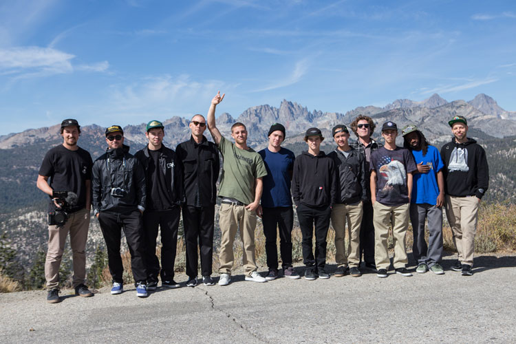
[[[323,270],[326,265],[326,237],[330,227],[330,206],[311,207],[299,204],[297,219],[303,240],[303,263],[305,266],[314,266],[316,270]],[[312,237],[315,226],[315,258],[312,252]]]

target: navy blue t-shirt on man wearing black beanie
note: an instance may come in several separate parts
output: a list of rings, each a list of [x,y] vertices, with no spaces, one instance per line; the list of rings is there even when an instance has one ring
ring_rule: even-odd
[[[278,153],[273,153],[267,148],[258,153],[267,169],[267,175],[264,177],[264,191],[261,193],[261,206],[266,208],[292,206],[290,176],[294,166],[294,153],[285,148],[281,148]]]

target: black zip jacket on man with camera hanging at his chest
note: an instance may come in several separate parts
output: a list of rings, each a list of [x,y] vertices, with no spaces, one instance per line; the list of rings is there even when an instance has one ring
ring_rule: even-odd
[[[120,188],[122,197],[111,190]],[[129,213],[145,209],[145,175],[134,155],[125,144],[107,149],[95,160],[92,168],[92,205],[94,214],[100,212]]]

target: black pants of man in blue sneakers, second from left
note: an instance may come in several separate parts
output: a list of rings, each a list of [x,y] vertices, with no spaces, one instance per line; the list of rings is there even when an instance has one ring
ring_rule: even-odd
[[[107,264],[114,282],[123,283],[124,266],[120,256],[121,230],[124,230],[129,253],[131,253],[131,269],[136,283],[146,283],[147,272],[143,261],[144,237],[142,230],[142,214],[131,211],[127,214],[98,213],[100,230],[107,246]]]

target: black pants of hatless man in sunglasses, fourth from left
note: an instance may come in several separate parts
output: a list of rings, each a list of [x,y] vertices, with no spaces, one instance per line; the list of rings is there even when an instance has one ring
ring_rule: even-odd
[[[211,275],[214,222],[215,205],[183,207],[184,238],[186,239],[186,275],[190,278],[197,277],[197,240],[201,253],[202,276]]]

